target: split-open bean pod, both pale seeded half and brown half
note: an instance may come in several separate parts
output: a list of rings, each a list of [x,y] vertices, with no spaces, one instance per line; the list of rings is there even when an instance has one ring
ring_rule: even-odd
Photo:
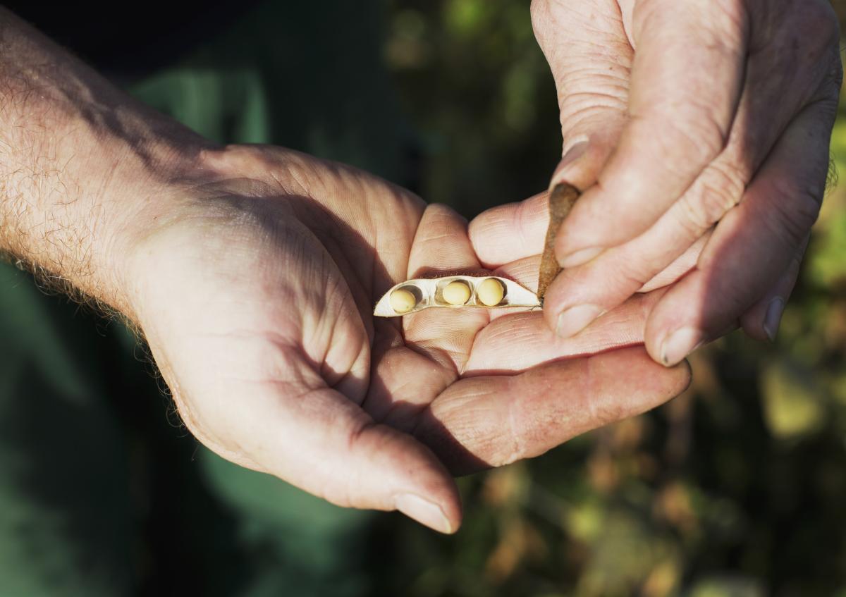
[[[568,183],[556,185],[549,195],[549,227],[541,255],[537,293],[514,280],[497,276],[419,278],[400,282],[388,290],[376,303],[373,315],[399,317],[430,307],[502,309],[542,306],[547,288],[561,271],[555,258],[555,236],[579,195],[579,189]]]

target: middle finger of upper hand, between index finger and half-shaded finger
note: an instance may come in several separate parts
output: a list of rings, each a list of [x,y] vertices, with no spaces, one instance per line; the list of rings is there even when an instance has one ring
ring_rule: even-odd
[[[569,314],[551,314],[560,333],[580,331],[590,323],[592,312],[613,309],[647,281],[656,284],[659,272],[667,279],[671,271],[684,273],[693,265],[691,258],[699,255],[711,228],[739,203],[755,170],[799,109],[798,94],[784,97],[773,109],[761,109],[761,98],[776,96],[785,85],[782,76],[772,75],[766,61],[772,58],[762,53],[750,60],[728,145],[684,195],[645,233],[603,251],[582,266],[569,267],[562,281],[550,289],[547,304],[560,304],[560,312]],[[799,79],[796,85],[802,89],[810,85],[804,74],[789,76]],[[613,221],[621,222],[618,217],[615,213]],[[579,223],[570,225],[578,227]],[[566,245],[571,237],[566,230],[562,234]],[[687,267],[678,271],[681,266]]]

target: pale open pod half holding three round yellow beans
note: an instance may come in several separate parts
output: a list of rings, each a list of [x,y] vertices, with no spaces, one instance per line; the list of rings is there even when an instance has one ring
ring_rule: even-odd
[[[373,315],[398,317],[430,307],[537,307],[537,295],[514,280],[497,276],[448,276],[400,282],[379,299]]]

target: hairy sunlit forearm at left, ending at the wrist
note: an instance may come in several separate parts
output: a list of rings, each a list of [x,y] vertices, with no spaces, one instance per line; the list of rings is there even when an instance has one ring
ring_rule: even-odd
[[[0,8],[0,252],[131,317],[127,244],[204,146]]]

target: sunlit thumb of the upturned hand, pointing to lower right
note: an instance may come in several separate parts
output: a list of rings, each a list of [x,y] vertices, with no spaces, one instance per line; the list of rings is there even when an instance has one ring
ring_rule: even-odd
[[[239,408],[225,409],[222,420],[203,413],[206,428],[223,430],[222,437],[192,431],[222,457],[245,454],[250,468],[338,506],[399,510],[442,533],[458,529],[458,490],[437,457],[409,435],[375,424],[307,366],[298,368],[295,382],[218,388],[239,398]],[[238,452],[222,447],[229,445]]]

